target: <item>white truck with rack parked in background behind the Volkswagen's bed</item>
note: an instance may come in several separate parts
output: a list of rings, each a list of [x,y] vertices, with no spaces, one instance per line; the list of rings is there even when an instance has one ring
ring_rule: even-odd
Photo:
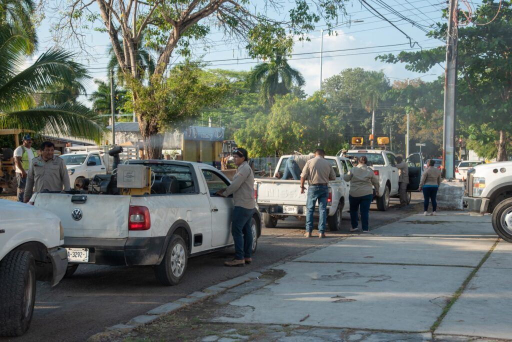
[[[66,154],[61,155],[66,162],[71,187],[79,188],[76,180],[92,179],[96,175],[112,173],[113,158],[108,151],[111,146],[74,146],[67,147]],[[138,146],[123,146],[123,152],[119,154],[121,162],[126,160],[137,160],[139,157]]]

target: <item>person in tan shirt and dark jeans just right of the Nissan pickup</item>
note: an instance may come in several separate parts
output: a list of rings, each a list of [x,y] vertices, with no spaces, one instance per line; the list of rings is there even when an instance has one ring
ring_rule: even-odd
[[[375,176],[372,168],[367,165],[368,159],[361,156],[358,160],[356,167],[353,167],[343,179],[350,182],[349,203],[350,203],[350,221],[352,229],[350,231],[357,231],[358,217],[357,212],[361,212],[361,227],[362,232],[368,232],[370,204],[373,199],[373,188],[375,187],[376,194],[379,193],[379,179]],[[359,209],[360,208],[360,209]]]

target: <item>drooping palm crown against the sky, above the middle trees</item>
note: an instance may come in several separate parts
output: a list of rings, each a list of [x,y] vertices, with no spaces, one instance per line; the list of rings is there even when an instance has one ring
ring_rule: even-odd
[[[257,65],[248,81],[253,91],[260,90],[262,101],[269,105],[274,104],[275,95],[286,95],[292,91],[293,86],[302,87],[306,84],[302,74],[290,67],[284,57]]]

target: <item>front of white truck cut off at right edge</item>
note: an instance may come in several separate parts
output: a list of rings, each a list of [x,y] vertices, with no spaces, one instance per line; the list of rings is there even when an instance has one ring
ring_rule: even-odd
[[[471,215],[492,213],[494,231],[512,243],[512,161],[469,169],[462,203]]]

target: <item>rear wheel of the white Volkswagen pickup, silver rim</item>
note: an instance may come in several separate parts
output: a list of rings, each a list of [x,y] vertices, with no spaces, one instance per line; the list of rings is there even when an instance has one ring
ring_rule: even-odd
[[[181,236],[174,234],[170,237],[162,262],[155,266],[155,275],[162,285],[178,285],[185,275],[187,264],[187,245]]]

